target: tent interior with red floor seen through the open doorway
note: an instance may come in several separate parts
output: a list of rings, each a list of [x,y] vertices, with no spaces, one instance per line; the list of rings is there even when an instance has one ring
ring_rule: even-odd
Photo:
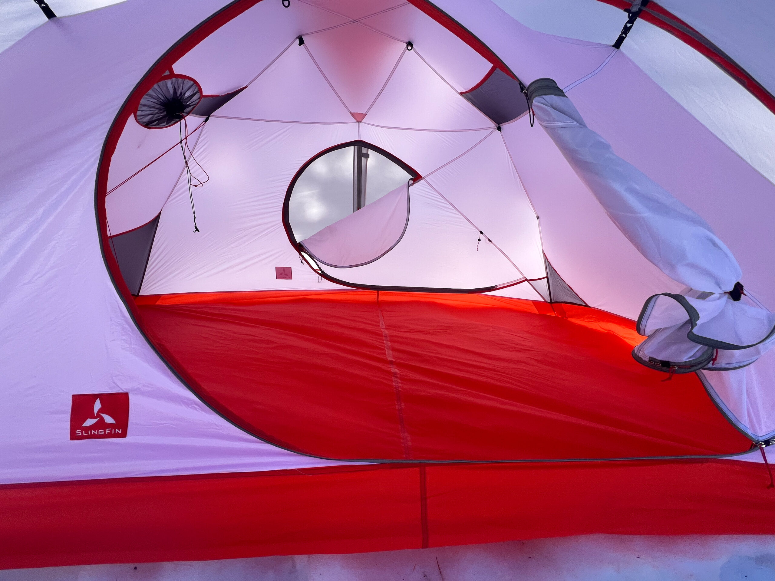
[[[561,157],[461,30],[422,2],[259,2],[150,79],[195,94],[181,122],[149,128],[139,84],[98,201],[140,328],[223,417],[312,456],[749,450],[698,376],[632,359],[632,308],[554,268],[515,156]]]

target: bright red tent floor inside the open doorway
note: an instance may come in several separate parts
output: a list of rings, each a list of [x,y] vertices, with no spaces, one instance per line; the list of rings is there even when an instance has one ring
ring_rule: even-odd
[[[632,321],[592,308],[484,295],[382,292],[377,301],[374,291],[138,304],[151,339],[205,401],[315,456],[605,459],[750,448],[696,376],[664,381],[640,366]]]

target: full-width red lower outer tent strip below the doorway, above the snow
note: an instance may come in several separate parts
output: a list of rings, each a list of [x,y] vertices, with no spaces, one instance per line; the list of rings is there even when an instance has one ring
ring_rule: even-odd
[[[768,480],[753,462],[673,460],[343,466],[0,486],[0,568],[588,533],[772,535]]]

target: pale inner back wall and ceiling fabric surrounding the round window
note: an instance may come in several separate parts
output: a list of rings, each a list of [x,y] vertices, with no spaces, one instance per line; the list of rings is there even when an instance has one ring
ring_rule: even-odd
[[[167,199],[141,294],[336,287],[299,263],[281,222],[282,205],[305,162],[356,139],[398,157],[425,184],[411,188],[409,224],[394,248],[373,263],[324,266],[325,273],[348,284],[432,289],[545,277],[535,212],[505,142],[459,92],[477,84],[491,64],[412,5],[375,2],[361,12],[349,2],[320,6],[324,12],[296,2],[278,12],[275,3],[260,2],[174,64],[176,74],[202,83],[205,94],[246,86],[188,138],[209,177],[191,192],[200,232],[194,232],[181,172],[171,194],[168,177],[157,186],[149,184],[153,178],[138,179],[147,170],[122,184],[160,147],[149,142],[116,151],[118,159],[131,149],[132,159],[122,160],[115,177],[111,167],[111,183],[122,184],[108,197],[115,197],[108,209],[112,233],[148,222],[156,201]],[[256,34],[270,48],[257,50]],[[230,77],[215,55],[240,60]],[[133,136],[135,128],[127,131]],[[132,136],[122,136],[122,143],[136,143]],[[167,156],[181,160],[177,152]],[[198,167],[194,174],[205,179]],[[336,256],[320,258],[341,264],[344,254]],[[277,280],[277,266],[296,265],[291,280]]]

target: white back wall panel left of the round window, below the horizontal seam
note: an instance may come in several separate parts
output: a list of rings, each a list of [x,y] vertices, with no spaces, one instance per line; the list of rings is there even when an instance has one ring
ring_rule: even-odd
[[[241,96],[226,107],[241,106]],[[339,287],[318,282],[301,264],[283,228],[282,206],[298,168],[333,143],[357,139],[356,122],[212,117],[201,131],[195,156],[210,180],[194,191],[200,232],[194,232],[188,183],[179,180],[161,212],[141,294]],[[277,280],[276,266],[291,266],[293,279]]]

